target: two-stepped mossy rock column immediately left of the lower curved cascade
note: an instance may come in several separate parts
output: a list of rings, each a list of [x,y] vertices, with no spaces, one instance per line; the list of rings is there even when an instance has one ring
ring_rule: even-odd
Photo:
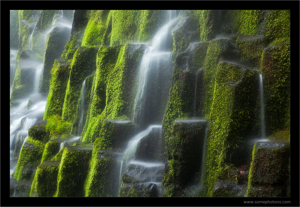
[[[85,184],[86,196],[110,197],[118,195],[115,189],[120,187],[119,165],[123,158],[120,152],[125,150],[126,143],[134,132],[135,124],[130,121],[107,120],[103,122],[99,137],[94,142],[94,150]],[[118,152],[107,150],[117,150]],[[115,182],[117,184],[112,184]],[[109,190],[106,188],[109,188]]]

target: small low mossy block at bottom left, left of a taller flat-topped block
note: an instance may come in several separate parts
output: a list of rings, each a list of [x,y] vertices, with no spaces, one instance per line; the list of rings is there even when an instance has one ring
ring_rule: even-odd
[[[42,162],[35,172],[30,197],[53,197],[57,187],[59,161]]]

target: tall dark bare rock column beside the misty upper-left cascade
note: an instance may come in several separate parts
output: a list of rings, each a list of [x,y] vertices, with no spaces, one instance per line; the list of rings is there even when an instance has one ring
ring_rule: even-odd
[[[55,59],[60,59],[71,35],[71,29],[65,26],[56,26],[46,38],[43,72],[40,79],[39,92],[48,94],[50,73]]]

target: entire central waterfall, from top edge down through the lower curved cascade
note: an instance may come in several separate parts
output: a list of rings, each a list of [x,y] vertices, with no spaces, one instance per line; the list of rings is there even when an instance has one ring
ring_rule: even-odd
[[[164,97],[168,95],[165,93],[170,90],[169,83],[172,77],[169,66],[171,60],[170,27],[175,21],[176,11],[169,10],[169,21],[159,29],[152,39],[152,44],[143,54],[133,108],[133,119],[140,132],[129,141],[120,169],[122,172],[124,164],[126,167],[136,165],[147,168],[150,171],[151,179],[144,182],[155,184],[158,188],[158,196],[162,196],[162,175],[151,171],[153,166],[163,169],[164,163],[162,161],[151,162],[151,166],[149,166],[148,161],[138,161],[135,153],[141,139],[148,136],[152,130],[158,129],[160,133],[156,136],[160,136],[159,139],[162,139],[162,117],[159,117],[158,111],[160,107],[165,107],[167,100]],[[120,173],[120,181],[122,174]]]

